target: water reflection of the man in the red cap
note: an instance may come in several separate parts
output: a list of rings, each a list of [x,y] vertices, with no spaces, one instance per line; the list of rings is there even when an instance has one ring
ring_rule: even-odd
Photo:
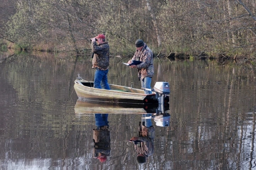
[[[105,162],[107,156],[110,155],[110,130],[108,125],[108,114],[94,114],[95,125],[97,129],[94,129],[94,158]]]

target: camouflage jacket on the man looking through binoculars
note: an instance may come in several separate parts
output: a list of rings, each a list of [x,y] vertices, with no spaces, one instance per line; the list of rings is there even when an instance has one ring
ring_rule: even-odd
[[[109,66],[109,45],[108,42],[97,45],[96,41],[91,44],[94,57],[92,58],[92,68],[99,68],[106,70]]]

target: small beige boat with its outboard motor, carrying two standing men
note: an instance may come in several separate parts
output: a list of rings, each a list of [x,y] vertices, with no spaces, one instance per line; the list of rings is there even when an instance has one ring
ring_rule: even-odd
[[[110,84],[111,90],[96,89],[94,82],[78,77],[75,80],[74,89],[79,98],[91,101],[103,101],[113,103],[135,103],[152,104],[169,102],[169,84],[166,82],[156,82],[153,94],[144,94],[144,90],[132,87]],[[149,89],[150,90],[150,89]]]

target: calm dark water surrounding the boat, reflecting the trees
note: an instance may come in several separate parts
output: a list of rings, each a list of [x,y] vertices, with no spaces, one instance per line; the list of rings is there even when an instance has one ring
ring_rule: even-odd
[[[248,64],[155,58],[151,86],[170,84],[170,125],[151,119],[153,154],[139,164],[127,140],[138,136],[143,109],[77,101],[77,74],[94,79],[90,56],[7,57],[0,54],[0,169],[256,169],[256,72]],[[109,83],[140,88],[128,60],[111,58]],[[105,162],[93,158],[94,113],[108,113]]]

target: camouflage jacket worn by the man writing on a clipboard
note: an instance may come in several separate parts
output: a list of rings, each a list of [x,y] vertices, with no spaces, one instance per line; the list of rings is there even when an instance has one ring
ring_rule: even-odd
[[[145,77],[153,77],[154,75],[153,52],[146,45],[146,43],[144,43],[144,46],[142,47],[141,51],[136,50],[132,58],[132,61],[134,60],[142,61],[142,63],[136,66],[136,68],[139,69],[138,77],[140,77],[142,80]]]

